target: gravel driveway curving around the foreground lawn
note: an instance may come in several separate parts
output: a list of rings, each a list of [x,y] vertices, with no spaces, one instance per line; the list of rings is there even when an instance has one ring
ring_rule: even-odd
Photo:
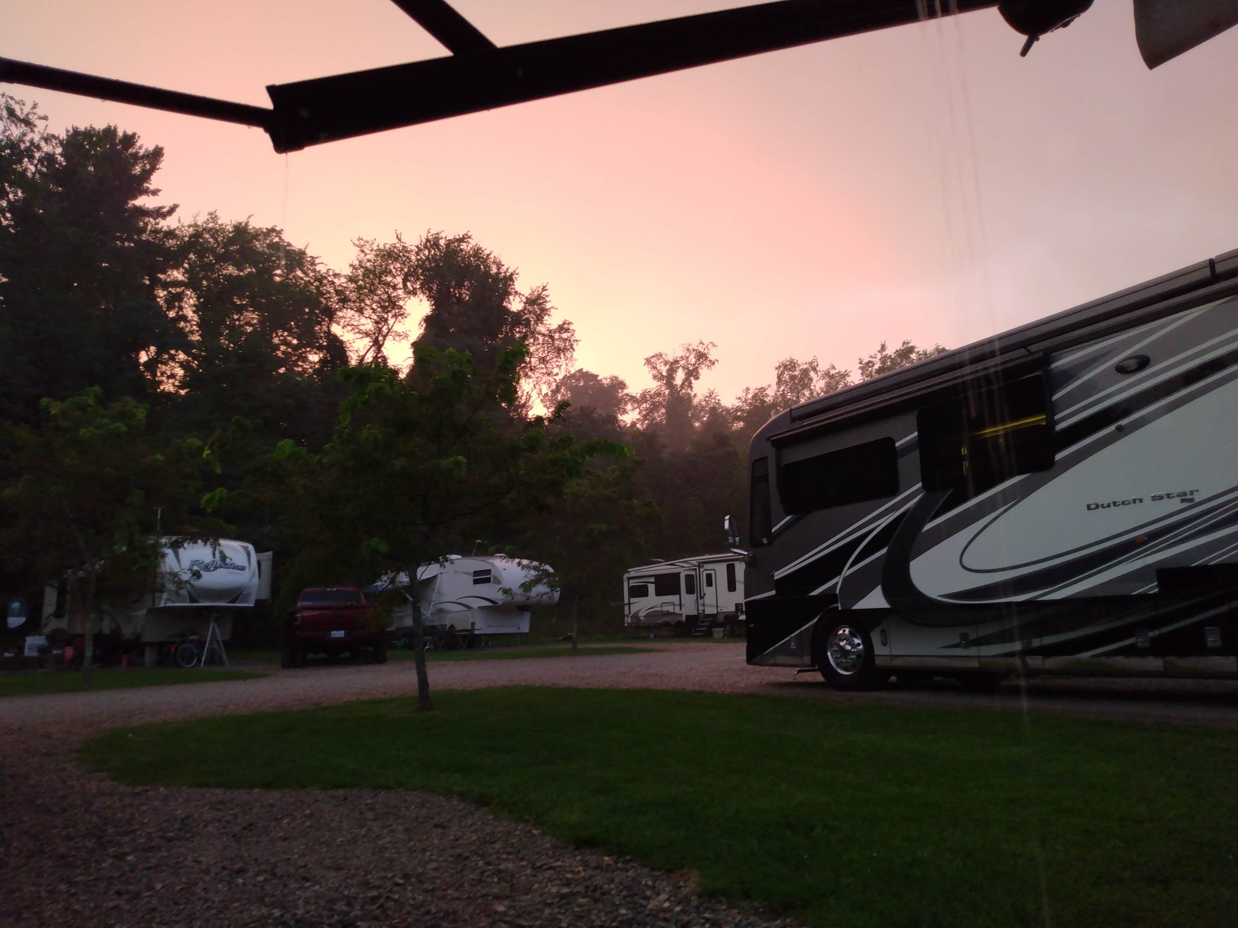
[[[436,689],[584,685],[776,693],[1238,726],[1238,683],[1046,681],[839,694],[748,667],[743,648],[432,663]],[[785,926],[666,875],[449,797],[401,791],[131,788],[72,761],[114,725],[415,692],[411,662],[227,683],[0,699],[0,926]]]

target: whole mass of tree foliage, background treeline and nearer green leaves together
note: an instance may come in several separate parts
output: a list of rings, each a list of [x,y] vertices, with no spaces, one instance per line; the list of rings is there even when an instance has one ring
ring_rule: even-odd
[[[702,338],[645,358],[650,382],[631,386],[574,367],[576,329],[550,287],[521,285],[468,233],[357,238],[348,267],[332,269],[275,226],[178,219],[158,200],[162,148],[132,132],[46,122],[0,94],[0,483],[33,486],[33,448],[69,440],[47,429],[71,413],[124,424],[108,455],[131,442],[134,480],[137,462],[209,439],[218,511],[272,547],[290,583],[332,563],[369,580],[485,537],[550,563],[566,601],[617,598],[628,567],[717,549],[722,517],[744,521],[748,445],[771,416],[945,350],[883,342],[854,369],[785,358],[727,401],[702,389],[727,360]],[[452,436],[433,454],[432,422]],[[253,480],[296,462],[282,485]],[[338,499],[308,506],[311,475]],[[439,509],[452,481],[475,512]],[[484,488],[498,495],[482,505]],[[43,504],[52,522],[58,499]],[[187,523],[209,518],[184,505]],[[415,525],[433,543],[416,547]],[[46,543],[63,559],[62,542]],[[332,544],[373,561],[332,562]],[[10,558],[0,584],[28,589],[40,570]]]

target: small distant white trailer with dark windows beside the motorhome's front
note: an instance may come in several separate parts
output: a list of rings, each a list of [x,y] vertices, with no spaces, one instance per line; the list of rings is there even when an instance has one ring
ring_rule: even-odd
[[[744,558],[702,554],[634,567],[623,578],[624,625],[704,635],[744,622]]]

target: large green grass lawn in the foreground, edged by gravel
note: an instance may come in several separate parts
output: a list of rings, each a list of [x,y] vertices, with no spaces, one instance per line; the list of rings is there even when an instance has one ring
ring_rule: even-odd
[[[509,688],[110,731],[132,784],[457,793],[817,926],[1223,926],[1233,731]]]

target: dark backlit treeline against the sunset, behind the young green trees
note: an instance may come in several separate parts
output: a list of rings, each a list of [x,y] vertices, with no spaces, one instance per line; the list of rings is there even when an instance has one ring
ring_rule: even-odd
[[[773,415],[945,350],[883,343],[854,370],[787,358],[771,384],[725,402],[699,389],[718,363],[716,345],[702,340],[644,359],[652,386],[634,390],[576,367],[576,330],[556,318],[550,288],[521,288],[516,270],[467,233],[357,239],[352,264],[333,270],[277,228],[217,213],[178,218],[175,204],[158,202],[160,146],[115,126],[53,134],[46,125],[36,106],[0,95],[6,485],[20,478],[12,429],[36,427],[45,397],[98,387],[102,401],[145,405],[149,431],[163,439],[207,440],[243,423],[251,452],[284,439],[319,449],[337,424],[347,395],[339,372],[349,365],[396,366],[392,356],[405,356],[412,339],[468,351],[487,370],[519,342],[529,356],[505,416],[515,422],[566,402],[552,429],[635,449],[635,500],[599,496],[557,517],[597,518],[599,506],[633,501],[656,506],[655,517],[652,507],[633,509],[625,531],[639,537],[599,551],[595,573],[579,580],[598,586],[594,598],[614,600],[633,558],[723,547],[723,516],[747,516],[748,443]],[[219,479],[239,485],[241,471],[238,460],[224,460]],[[227,515],[236,537],[276,547],[277,557],[292,553],[270,512]],[[150,517],[154,532],[154,502]],[[504,531],[524,535],[484,541],[537,553],[535,523],[495,527]],[[6,590],[50,582],[9,564],[0,570]],[[567,588],[565,596],[591,598]]]

